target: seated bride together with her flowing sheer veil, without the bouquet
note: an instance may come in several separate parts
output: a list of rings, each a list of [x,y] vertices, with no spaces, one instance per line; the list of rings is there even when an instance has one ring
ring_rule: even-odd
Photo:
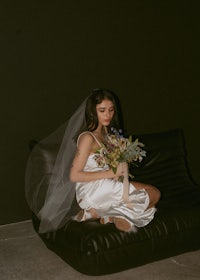
[[[160,199],[157,188],[128,182],[124,199],[124,183],[118,178],[128,178],[127,168],[120,163],[114,173],[95,160],[111,127],[120,128],[118,97],[96,89],[66,123],[34,147],[26,168],[25,194],[40,220],[39,233],[55,231],[72,218],[80,222],[98,218],[122,231],[143,227],[154,218]]]

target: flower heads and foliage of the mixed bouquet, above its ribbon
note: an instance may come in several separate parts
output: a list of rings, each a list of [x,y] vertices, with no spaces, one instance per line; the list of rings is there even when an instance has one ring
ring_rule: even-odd
[[[116,173],[120,162],[141,162],[143,157],[146,156],[143,147],[144,144],[139,142],[138,139],[132,141],[131,136],[125,138],[121,131],[112,129],[111,133],[105,136],[104,144],[96,151],[95,159],[99,167],[107,164]]]

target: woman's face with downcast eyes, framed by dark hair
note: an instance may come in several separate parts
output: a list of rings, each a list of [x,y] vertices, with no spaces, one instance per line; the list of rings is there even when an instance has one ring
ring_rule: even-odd
[[[96,110],[99,125],[108,126],[115,113],[113,102],[104,99],[100,104],[97,104]]]

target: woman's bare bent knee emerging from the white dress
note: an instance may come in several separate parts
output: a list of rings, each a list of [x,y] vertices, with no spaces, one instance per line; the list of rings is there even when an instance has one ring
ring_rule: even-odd
[[[140,183],[140,182],[130,182],[132,185],[134,185],[134,187],[136,189],[145,189],[146,192],[148,193],[149,195],[149,206],[147,207],[148,208],[151,208],[153,206],[155,206],[158,201],[160,200],[160,191],[152,186],[152,185],[149,185],[149,184],[144,184],[144,183]]]

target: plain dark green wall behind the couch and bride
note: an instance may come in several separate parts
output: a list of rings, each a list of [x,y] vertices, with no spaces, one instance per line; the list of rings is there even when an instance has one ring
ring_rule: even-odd
[[[63,123],[92,88],[119,95],[129,133],[183,128],[200,183],[194,3],[36,2],[0,4],[0,223],[30,217],[24,198],[29,140]]]

